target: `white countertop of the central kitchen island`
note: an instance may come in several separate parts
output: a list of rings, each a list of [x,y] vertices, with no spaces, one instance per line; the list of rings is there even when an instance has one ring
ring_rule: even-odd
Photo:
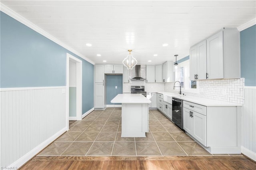
[[[142,94],[118,94],[111,103],[151,103]]]

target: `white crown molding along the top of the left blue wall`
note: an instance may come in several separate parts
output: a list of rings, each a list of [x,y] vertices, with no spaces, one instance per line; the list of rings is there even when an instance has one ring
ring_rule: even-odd
[[[7,14],[8,16],[11,16],[12,18],[14,18],[15,20],[21,22],[22,24],[28,26],[29,28],[31,28],[32,30],[38,32],[39,34],[41,34],[42,36],[48,38],[49,40],[52,40],[53,42],[57,43],[58,45],[66,48],[67,50],[71,51],[72,53],[78,55],[79,57],[81,57],[82,59],[88,61],[89,63],[95,65],[95,63],[88,59],[87,57],[85,57],[84,55],[82,55],[81,53],[79,53],[78,51],[74,50],[73,48],[69,47],[68,45],[66,45],[65,43],[61,42],[60,40],[58,40],[57,38],[55,38],[54,36],[50,35],[49,33],[47,33],[46,31],[42,30],[41,28],[39,28],[38,26],[36,26],[35,24],[33,24],[32,22],[28,21],[26,18],[24,18],[23,16],[21,16],[20,14],[14,12],[13,10],[11,10],[10,8],[8,8],[7,6],[5,6],[4,4],[0,3],[0,10],[2,12],[4,12],[5,14]]]

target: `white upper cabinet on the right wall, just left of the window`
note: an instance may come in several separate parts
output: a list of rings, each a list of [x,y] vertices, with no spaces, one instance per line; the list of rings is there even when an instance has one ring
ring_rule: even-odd
[[[174,82],[173,61],[166,61],[162,64],[162,82]]]

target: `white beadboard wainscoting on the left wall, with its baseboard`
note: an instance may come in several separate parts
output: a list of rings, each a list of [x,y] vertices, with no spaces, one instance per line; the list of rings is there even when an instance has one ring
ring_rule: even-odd
[[[20,167],[66,131],[66,87],[0,89],[0,166]]]

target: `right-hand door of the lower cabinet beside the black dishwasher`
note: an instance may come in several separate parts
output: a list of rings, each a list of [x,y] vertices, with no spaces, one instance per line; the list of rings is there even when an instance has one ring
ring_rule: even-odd
[[[206,116],[193,112],[192,118],[194,124],[194,133],[192,136],[206,146]]]

